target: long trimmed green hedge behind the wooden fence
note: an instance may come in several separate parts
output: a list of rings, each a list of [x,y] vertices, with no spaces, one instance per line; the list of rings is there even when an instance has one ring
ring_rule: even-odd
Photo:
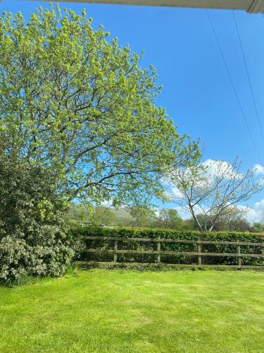
[[[168,229],[134,229],[134,228],[103,228],[103,227],[84,227],[75,228],[74,232],[80,237],[121,237],[121,238],[151,238],[156,239],[190,239],[190,240],[208,240],[208,241],[249,241],[263,242],[264,234],[242,233],[242,232],[193,232],[178,231]],[[114,241],[92,241],[85,240],[85,246],[94,249],[113,249]],[[120,241],[118,249],[134,250],[156,250],[157,244]],[[197,251],[196,244],[173,244],[161,243],[161,251]],[[233,245],[202,245],[202,252],[209,253],[237,253],[237,246]],[[264,247],[261,246],[241,246],[241,253],[264,253]],[[82,253],[82,261],[113,261],[113,254],[108,253]],[[203,264],[215,265],[237,265],[237,258],[220,256],[203,256]],[[139,262],[156,263],[156,255],[149,254],[118,254],[118,262]],[[184,263],[197,264],[197,256],[167,256],[161,255],[162,263]],[[244,265],[264,265],[264,258],[242,258]]]

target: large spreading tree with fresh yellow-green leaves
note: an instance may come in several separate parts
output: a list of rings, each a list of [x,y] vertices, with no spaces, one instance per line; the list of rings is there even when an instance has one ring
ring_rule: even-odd
[[[162,174],[196,145],[156,107],[155,69],[91,23],[58,7],[27,23],[2,14],[1,149],[56,172],[68,201],[142,203],[161,196]]]

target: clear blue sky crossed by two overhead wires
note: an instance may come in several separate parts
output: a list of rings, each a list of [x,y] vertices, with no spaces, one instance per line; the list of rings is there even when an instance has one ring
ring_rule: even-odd
[[[0,11],[22,11],[25,16],[44,1],[2,0]],[[144,49],[142,66],[153,64],[163,92],[157,104],[167,109],[180,133],[200,138],[204,159],[232,162],[239,155],[244,169],[264,164],[264,143],[249,90],[232,11],[210,11],[234,85],[260,159],[246,130],[232,85],[222,63],[205,10],[108,6],[65,3],[76,12],[87,8],[94,28],[103,24],[119,43],[134,52]],[[253,92],[264,130],[264,18],[236,12]],[[264,193],[251,201],[253,208]],[[262,206],[261,206],[262,208]],[[263,201],[264,208],[264,201]]]

